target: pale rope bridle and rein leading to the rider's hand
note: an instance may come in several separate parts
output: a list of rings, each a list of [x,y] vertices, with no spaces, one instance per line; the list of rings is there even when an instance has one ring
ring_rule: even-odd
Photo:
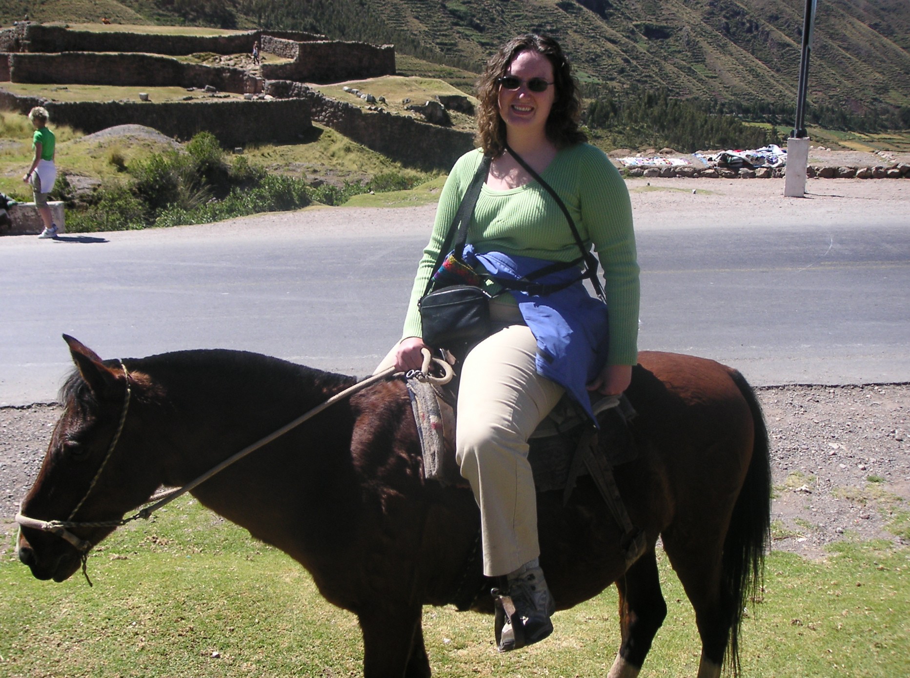
[[[95,473],[95,477],[92,479],[91,483],[89,484],[88,490],[86,490],[86,494],[79,501],[79,503],[76,504],[76,508],[70,512],[69,518],[66,521],[38,521],[38,520],[35,520],[35,518],[29,518],[28,516],[24,515],[21,511],[21,507],[20,507],[20,511],[18,513],[16,513],[16,515],[15,515],[15,521],[19,524],[20,531],[23,527],[25,527],[25,528],[31,528],[33,530],[51,532],[52,534],[56,534],[58,537],[60,537],[61,539],[64,539],[69,544],[71,544],[73,546],[73,548],[75,548],[76,551],[79,552],[81,555],[82,573],[85,575],[86,582],[88,582],[89,586],[92,586],[92,581],[88,578],[87,559],[88,559],[88,552],[91,551],[94,544],[91,541],[87,541],[87,540],[77,537],[75,534],[73,534],[73,532],[69,531],[67,528],[121,527],[123,525],[126,525],[126,523],[128,523],[128,522],[136,521],[140,518],[142,518],[144,520],[148,520],[148,518],[152,515],[153,512],[157,511],[158,509],[160,509],[163,506],[166,506],[171,501],[174,501],[175,499],[177,499],[177,497],[180,497],[180,496],[186,494],[188,491],[195,489],[198,485],[207,481],[209,478],[216,475],[218,472],[224,471],[225,469],[227,469],[228,466],[230,466],[231,464],[235,463],[238,460],[243,459],[251,452],[254,452],[254,451],[258,450],[259,448],[262,448],[262,447],[268,445],[269,442],[280,438],[285,433],[287,433],[289,430],[292,430],[292,429],[298,427],[304,421],[315,417],[317,414],[319,414],[319,412],[321,412],[322,410],[326,410],[327,408],[331,407],[339,400],[344,400],[346,398],[349,398],[350,396],[357,393],[359,390],[364,390],[368,386],[376,383],[377,381],[379,381],[381,379],[385,379],[386,377],[389,377],[390,375],[395,373],[394,367],[383,369],[381,372],[374,374],[374,375],[368,377],[367,379],[362,379],[361,381],[358,381],[356,384],[349,386],[345,390],[339,391],[339,393],[336,393],[334,396],[329,398],[329,400],[319,403],[319,405],[317,405],[312,410],[308,410],[304,414],[300,415],[297,419],[289,422],[288,424],[285,424],[280,429],[269,433],[268,436],[266,436],[265,438],[261,438],[261,439],[257,440],[256,442],[252,443],[251,445],[248,445],[247,447],[245,447],[243,450],[238,451],[233,456],[228,457],[226,460],[217,464],[217,466],[214,466],[211,469],[209,469],[208,471],[206,471],[205,473],[203,473],[196,480],[188,482],[186,485],[184,485],[181,488],[178,488],[177,490],[169,491],[164,494],[157,493],[156,495],[151,497],[151,499],[149,500],[149,501],[153,501],[154,503],[151,503],[148,506],[140,509],[139,511],[136,511],[136,513],[131,515],[129,518],[121,518],[120,520],[117,520],[117,521],[96,521],[96,522],[73,521],[73,518],[76,515],[76,511],[79,511],[79,509],[82,508],[82,505],[85,503],[86,499],[88,498],[88,495],[91,494],[92,490],[95,488],[98,478],[101,476],[101,471],[104,471],[104,469],[107,465],[107,462],[110,460],[111,455],[114,453],[116,444],[120,440],[120,434],[123,433],[124,426],[126,425],[126,413],[129,411],[129,402],[130,402],[130,399],[132,396],[132,390],[130,389],[130,385],[129,385],[129,372],[126,369],[126,365],[124,364],[123,360],[119,360],[119,362],[120,362],[120,367],[123,369],[124,376],[126,377],[126,395],[124,396],[123,410],[120,413],[120,421],[119,421],[119,424],[117,425],[117,430],[116,430],[116,433],[114,434],[114,438],[111,439],[111,443],[110,443],[110,446],[107,448],[107,453],[105,455],[105,458],[104,458],[104,460],[102,460],[101,465],[98,467],[98,470]],[[430,375],[430,366],[432,363],[435,363],[438,367],[440,367],[440,369],[442,369],[442,375],[443,375],[442,377],[434,377],[434,376]],[[452,379],[453,373],[452,373],[451,366],[448,362],[446,362],[445,360],[439,359],[439,358],[431,358],[430,351],[427,349],[423,349],[423,365],[421,366],[420,369],[410,370],[406,376],[408,376],[408,377],[417,376],[418,378],[428,379],[430,381],[435,381],[437,383],[444,384],[444,383],[448,383]],[[18,541],[19,541],[18,538],[16,538],[16,543],[18,543]]]

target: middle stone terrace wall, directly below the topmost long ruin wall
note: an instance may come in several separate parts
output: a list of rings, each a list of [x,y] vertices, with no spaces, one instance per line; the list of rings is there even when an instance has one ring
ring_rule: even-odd
[[[243,68],[187,64],[169,56],[65,52],[8,56],[7,80],[56,85],[205,87],[238,94],[261,91],[261,81]],[[3,68],[0,66],[0,76]]]

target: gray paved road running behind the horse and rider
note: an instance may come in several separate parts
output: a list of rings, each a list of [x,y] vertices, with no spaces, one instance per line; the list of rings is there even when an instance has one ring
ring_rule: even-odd
[[[0,405],[55,400],[63,332],[103,358],[248,349],[367,374],[398,339],[433,207],[59,242],[0,238]],[[910,381],[910,219],[639,223],[642,349],[755,384]]]

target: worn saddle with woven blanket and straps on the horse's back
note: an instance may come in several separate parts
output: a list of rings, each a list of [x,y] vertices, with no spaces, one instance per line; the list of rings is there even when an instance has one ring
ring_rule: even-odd
[[[443,383],[441,379],[428,379],[425,372],[414,370],[408,373],[405,381],[420,438],[424,477],[446,486],[469,488],[455,460],[457,379]],[[591,406],[601,424],[600,431],[591,426],[587,416],[568,397],[564,397],[528,440],[528,460],[536,490],[561,490],[564,504],[571,498],[579,476],[591,476],[613,519],[622,529],[622,555],[628,569],[645,551],[645,534],[632,525],[612,469],[637,456],[630,429],[636,414],[624,395],[598,396]],[[599,439],[608,442],[600,445]],[[474,549],[470,560],[480,562],[479,548]],[[460,592],[461,600],[453,602],[460,610],[470,609],[473,593]]]

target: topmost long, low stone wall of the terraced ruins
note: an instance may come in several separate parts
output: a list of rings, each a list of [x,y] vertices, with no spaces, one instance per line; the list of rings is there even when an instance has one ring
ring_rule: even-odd
[[[186,56],[197,52],[242,54],[266,35],[308,42],[325,35],[302,31],[248,31],[236,35],[155,35],[120,32],[73,31],[63,26],[21,23],[0,30],[0,52],[147,52]]]

